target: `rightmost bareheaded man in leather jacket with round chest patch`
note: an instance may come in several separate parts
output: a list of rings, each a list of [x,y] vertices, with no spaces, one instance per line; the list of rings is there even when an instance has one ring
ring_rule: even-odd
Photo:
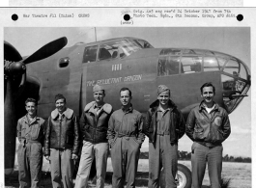
[[[221,187],[222,142],[230,135],[230,121],[225,109],[213,101],[215,88],[211,83],[201,87],[203,101],[187,118],[185,133],[193,141],[192,187],[201,188],[206,164],[212,188]]]

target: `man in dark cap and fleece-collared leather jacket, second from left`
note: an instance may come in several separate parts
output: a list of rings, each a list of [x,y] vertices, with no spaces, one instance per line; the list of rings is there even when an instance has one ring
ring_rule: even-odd
[[[56,109],[48,118],[44,156],[50,160],[53,188],[72,188],[73,159],[79,150],[79,125],[73,110],[66,107],[62,94],[55,96]]]

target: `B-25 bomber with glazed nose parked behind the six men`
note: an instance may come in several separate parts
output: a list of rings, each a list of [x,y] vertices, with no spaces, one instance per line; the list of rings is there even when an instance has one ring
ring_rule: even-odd
[[[213,83],[215,101],[229,114],[251,85],[250,70],[242,60],[221,52],[154,48],[146,40],[128,37],[78,42],[61,49],[66,43],[66,38],[52,41],[22,60],[14,46],[5,42],[6,174],[14,168],[15,122],[26,113],[27,97],[39,100],[38,115],[43,119],[55,108],[55,94],[64,94],[68,106],[80,116],[83,107],[94,100],[94,85],[104,86],[105,100],[114,109],[120,107],[119,90],[128,87],[132,105],[145,113],[156,100],[156,87],[164,84],[186,119],[201,101],[199,88],[205,82]],[[179,187],[187,187],[191,177],[181,165],[179,170]]]

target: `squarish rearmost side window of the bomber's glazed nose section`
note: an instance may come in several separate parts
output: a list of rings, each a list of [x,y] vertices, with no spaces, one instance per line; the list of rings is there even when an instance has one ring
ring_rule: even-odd
[[[166,76],[179,74],[179,56],[161,56],[158,60],[157,75]]]

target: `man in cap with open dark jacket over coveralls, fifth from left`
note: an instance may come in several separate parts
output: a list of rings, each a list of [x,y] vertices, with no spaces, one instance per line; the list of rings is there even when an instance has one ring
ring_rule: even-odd
[[[157,88],[157,100],[147,112],[144,131],[149,137],[149,188],[159,187],[160,170],[165,172],[165,185],[176,188],[178,140],[185,134],[183,114],[170,99],[169,88]]]

